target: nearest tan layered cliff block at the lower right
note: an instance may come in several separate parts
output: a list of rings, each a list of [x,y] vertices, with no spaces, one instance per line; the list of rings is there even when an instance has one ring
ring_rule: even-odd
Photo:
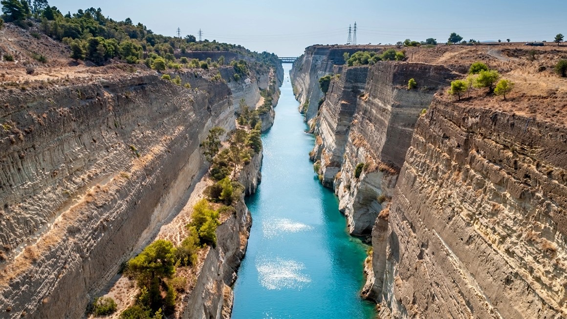
[[[373,231],[382,314],[566,316],[566,154],[564,127],[435,100]]]

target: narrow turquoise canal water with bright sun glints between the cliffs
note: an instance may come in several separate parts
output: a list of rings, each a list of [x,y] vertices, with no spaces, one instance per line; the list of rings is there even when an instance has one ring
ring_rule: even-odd
[[[276,121],[262,137],[262,183],[247,201],[252,230],[232,318],[371,318],[373,305],[359,297],[366,246],[348,235],[335,194],[313,172],[314,137],[285,66]]]

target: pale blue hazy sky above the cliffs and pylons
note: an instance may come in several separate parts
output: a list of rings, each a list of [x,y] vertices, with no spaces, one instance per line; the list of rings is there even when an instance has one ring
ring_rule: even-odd
[[[242,44],[258,52],[299,56],[311,44],[344,44],[357,22],[358,44],[464,40],[551,41],[567,36],[566,0],[50,0],[64,14],[100,7],[115,20],[130,18],[155,33],[195,35]]]

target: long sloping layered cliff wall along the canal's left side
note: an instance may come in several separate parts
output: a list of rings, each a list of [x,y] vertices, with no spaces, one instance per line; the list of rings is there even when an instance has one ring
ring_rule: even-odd
[[[0,96],[3,316],[81,317],[179,212],[205,171],[200,141],[259,99],[199,72],[180,74],[199,90],[132,75]]]

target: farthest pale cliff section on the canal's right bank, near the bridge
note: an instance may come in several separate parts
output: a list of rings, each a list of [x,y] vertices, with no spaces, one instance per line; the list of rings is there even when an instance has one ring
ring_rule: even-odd
[[[305,121],[309,122],[317,115],[318,103],[324,94],[319,88],[319,79],[333,73],[335,65],[345,63],[344,53],[352,54],[360,49],[353,47],[331,47],[314,45],[305,49],[305,53],[295,61],[291,69],[291,83],[299,109],[308,104]]]

